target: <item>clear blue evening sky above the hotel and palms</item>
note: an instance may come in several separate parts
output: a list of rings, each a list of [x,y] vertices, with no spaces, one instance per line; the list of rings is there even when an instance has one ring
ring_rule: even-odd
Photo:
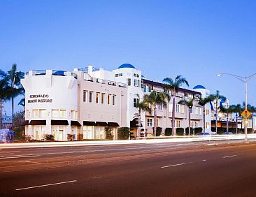
[[[256,73],[255,10],[256,1],[242,0],[1,1],[0,65],[26,72],[130,63],[152,80],[183,75],[190,88],[241,103],[243,83],[216,74]],[[255,85],[256,77],[253,105]]]

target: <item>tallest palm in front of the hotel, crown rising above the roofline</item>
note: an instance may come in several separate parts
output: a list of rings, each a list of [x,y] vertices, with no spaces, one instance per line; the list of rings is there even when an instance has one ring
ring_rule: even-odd
[[[182,77],[182,75],[176,76],[175,80],[172,78],[164,78],[163,82],[166,82],[164,85],[164,89],[171,91],[171,96],[173,96],[173,112],[172,112],[172,119],[171,119],[171,130],[172,135],[176,136],[176,130],[175,130],[175,95],[178,93],[179,87],[182,85],[189,86],[187,80]]]

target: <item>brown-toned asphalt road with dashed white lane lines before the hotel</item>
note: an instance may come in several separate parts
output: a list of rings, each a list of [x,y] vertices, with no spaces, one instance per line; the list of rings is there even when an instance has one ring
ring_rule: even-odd
[[[0,196],[256,196],[256,145],[227,143],[4,149]]]

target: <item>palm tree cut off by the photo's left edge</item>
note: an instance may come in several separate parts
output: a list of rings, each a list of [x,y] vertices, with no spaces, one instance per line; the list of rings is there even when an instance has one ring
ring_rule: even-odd
[[[6,73],[0,70],[0,129],[2,128],[2,104],[6,101],[10,94],[10,87],[8,86],[8,78]]]

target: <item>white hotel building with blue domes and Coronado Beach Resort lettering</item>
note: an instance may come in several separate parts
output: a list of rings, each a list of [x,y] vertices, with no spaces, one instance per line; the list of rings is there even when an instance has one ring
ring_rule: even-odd
[[[51,134],[55,140],[67,140],[67,134],[84,139],[104,139],[106,126],[111,126],[117,139],[119,127],[130,127],[134,136],[138,129],[152,133],[153,117],[142,112],[138,127],[138,109],[134,107],[139,97],[163,91],[163,83],[143,78],[141,71],[131,64],[122,64],[113,71],[103,68],[77,69],[73,72],[41,70],[29,71],[22,86],[26,91],[26,134],[36,140]],[[176,94],[176,127],[188,126],[188,109],[178,104],[180,99],[208,96],[203,86],[194,89],[180,88]],[[172,101],[172,100],[171,100]],[[172,103],[166,108],[157,106],[157,126],[164,133],[171,127]],[[203,108],[194,103],[192,127],[203,127]],[[142,130],[141,130],[142,129]],[[206,105],[206,131],[211,131],[211,105]]]

